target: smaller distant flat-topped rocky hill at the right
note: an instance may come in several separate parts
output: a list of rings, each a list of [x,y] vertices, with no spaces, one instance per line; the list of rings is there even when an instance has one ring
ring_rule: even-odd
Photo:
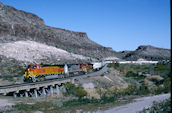
[[[153,46],[139,46],[135,51],[123,51],[123,59],[126,60],[137,60],[143,58],[146,60],[169,60],[170,50],[157,48]]]

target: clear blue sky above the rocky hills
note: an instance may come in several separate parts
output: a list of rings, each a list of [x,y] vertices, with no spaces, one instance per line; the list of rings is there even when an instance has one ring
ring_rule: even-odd
[[[0,0],[116,51],[170,48],[170,0]]]

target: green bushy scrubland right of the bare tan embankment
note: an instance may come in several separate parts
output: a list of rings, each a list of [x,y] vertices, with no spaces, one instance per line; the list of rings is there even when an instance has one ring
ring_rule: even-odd
[[[135,80],[137,95],[168,93],[171,90],[170,64],[118,64],[112,63],[108,67],[119,70],[126,80]],[[134,84],[131,83],[131,86]],[[135,92],[135,91],[133,91]]]

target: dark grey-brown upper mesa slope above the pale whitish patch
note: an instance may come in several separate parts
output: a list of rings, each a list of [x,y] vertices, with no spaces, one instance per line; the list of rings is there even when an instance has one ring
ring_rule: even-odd
[[[91,41],[86,33],[46,26],[34,14],[0,5],[0,43],[31,40],[45,43],[68,52],[102,58],[117,54]]]

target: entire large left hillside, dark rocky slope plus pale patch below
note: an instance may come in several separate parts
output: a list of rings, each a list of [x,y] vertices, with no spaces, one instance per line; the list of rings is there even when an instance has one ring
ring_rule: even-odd
[[[46,26],[38,16],[0,3],[0,75],[18,74],[29,63],[90,62],[116,54],[84,32]]]

